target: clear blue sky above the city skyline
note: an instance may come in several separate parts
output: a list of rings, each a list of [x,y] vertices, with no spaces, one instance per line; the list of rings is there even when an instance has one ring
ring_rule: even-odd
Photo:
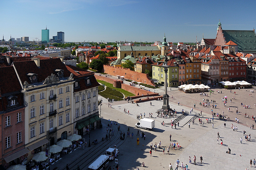
[[[256,28],[256,0],[0,0],[0,37],[65,42],[196,42],[224,30]],[[2,38],[0,38],[2,39]]]

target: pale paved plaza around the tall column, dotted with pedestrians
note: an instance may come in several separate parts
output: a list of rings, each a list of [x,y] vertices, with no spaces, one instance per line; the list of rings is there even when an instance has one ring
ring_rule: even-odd
[[[169,89],[168,89],[169,90]],[[172,89],[174,90],[174,88]],[[200,118],[204,121],[204,126],[200,126],[198,119],[195,120],[194,125],[191,123],[191,128],[186,124],[184,127],[177,127],[177,129],[172,129],[171,125],[162,126],[161,122],[169,123],[172,118],[159,118],[157,117],[156,110],[160,109],[162,106],[162,101],[154,100],[152,101],[152,106],[150,102],[139,103],[139,106],[136,104],[128,103],[127,101],[117,101],[111,103],[112,108],[108,107],[108,102],[103,100],[101,115],[103,119],[110,119],[113,121],[118,121],[118,123],[129,127],[130,132],[133,132],[134,137],[126,139],[125,143],[119,147],[120,156],[119,164],[121,170],[168,170],[169,164],[171,163],[175,167],[176,160],[180,160],[185,166],[188,164],[189,170],[249,170],[254,169],[250,168],[250,160],[256,158],[254,153],[254,148],[256,147],[256,133],[255,130],[250,129],[251,124],[255,124],[255,121],[252,121],[252,115],[255,112],[254,103],[256,102],[254,93],[250,93],[250,89],[235,90],[236,95],[230,93],[230,90],[225,89],[213,89],[215,92],[209,97],[200,96],[199,93],[194,94],[185,94],[178,90],[169,91],[169,96],[173,95],[173,99],[170,97],[170,107],[177,110],[177,117],[181,114],[181,110],[190,111],[193,107],[193,104],[196,104],[196,107],[193,108],[195,112],[202,115]],[[220,94],[216,93],[217,90],[220,90]],[[221,94],[222,91],[222,94]],[[160,95],[163,94],[161,88],[156,90]],[[252,94],[252,97],[249,97],[249,94]],[[227,96],[227,106],[224,107],[222,102],[222,97]],[[235,96],[235,100],[232,97]],[[213,112],[222,114],[226,117],[230,117],[230,121],[218,120],[215,117],[214,122],[207,123],[206,119],[211,118],[211,106],[202,107],[199,106],[199,102],[202,102],[203,98],[208,98],[211,100],[216,100],[217,109],[213,109]],[[230,98],[232,99],[230,103]],[[180,105],[178,106],[178,101]],[[241,107],[241,102],[247,105],[251,105],[251,109],[245,109]],[[228,112],[227,108],[230,108]],[[124,113],[124,108],[129,110],[129,115]],[[238,108],[238,115],[236,114],[236,108]],[[144,112],[146,118],[149,118],[149,113],[153,113],[153,118],[156,120],[156,127],[153,130],[142,130],[146,134],[145,140],[139,138],[140,145],[136,145],[137,139],[137,130],[135,128],[135,123],[138,122],[137,115],[142,113],[144,117]],[[250,116],[250,119],[245,118],[244,114],[247,113]],[[194,114],[194,113],[192,113]],[[239,119],[239,124],[234,120],[235,118]],[[175,119],[175,118],[174,118]],[[182,122],[182,121],[181,121]],[[185,122],[185,121],[183,121]],[[226,123],[226,128],[224,128],[224,122]],[[212,127],[214,123],[214,127]],[[238,127],[238,131],[233,131],[230,126],[231,123]],[[183,123],[180,123],[182,126]],[[243,130],[246,134],[251,134],[251,141],[245,141],[243,136]],[[220,133],[220,136],[223,140],[223,146],[217,144],[217,133]],[[167,153],[167,147],[170,144],[169,136],[172,135],[171,143],[180,143],[182,146],[179,149],[170,149],[170,155]],[[243,142],[240,143],[240,138],[242,137]],[[162,149],[157,151],[153,150],[152,157],[150,156],[150,145],[153,143],[159,143],[161,141],[161,146],[165,147],[165,154],[163,154]],[[231,149],[231,154],[225,153],[228,150],[228,147]],[[196,156],[196,165],[189,164],[189,156],[193,159],[193,156]],[[203,157],[203,164],[200,164],[200,156]],[[145,163],[146,167],[142,167],[142,162]],[[193,161],[192,161],[193,162]],[[113,163],[110,163],[113,164]],[[174,170],[175,168],[173,168]],[[181,169],[181,167],[179,167]]]

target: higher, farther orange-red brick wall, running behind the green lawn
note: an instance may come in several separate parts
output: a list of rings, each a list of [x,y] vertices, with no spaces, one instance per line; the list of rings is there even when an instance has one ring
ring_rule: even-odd
[[[142,82],[144,84],[155,86],[154,82],[149,78],[148,74],[134,72],[130,69],[104,65],[104,73],[108,73],[113,76],[125,76],[125,78],[129,80],[134,80],[137,82]]]

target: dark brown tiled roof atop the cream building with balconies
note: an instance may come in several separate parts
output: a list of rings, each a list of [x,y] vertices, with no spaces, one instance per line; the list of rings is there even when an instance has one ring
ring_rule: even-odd
[[[43,82],[46,77],[52,73],[57,75],[55,72],[56,69],[61,69],[64,71],[64,77],[69,77],[70,72],[67,70],[65,65],[62,63],[60,58],[53,58],[48,60],[40,60],[40,67],[38,68],[34,61],[20,61],[13,62],[20,78],[21,82],[27,81],[29,84],[32,84],[30,81],[28,73],[37,74],[37,82]]]

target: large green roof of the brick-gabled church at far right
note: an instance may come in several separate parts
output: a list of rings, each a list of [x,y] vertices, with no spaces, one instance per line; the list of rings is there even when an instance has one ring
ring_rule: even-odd
[[[239,52],[256,52],[256,34],[249,30],[223,30],[225,41],[233,41]]]

